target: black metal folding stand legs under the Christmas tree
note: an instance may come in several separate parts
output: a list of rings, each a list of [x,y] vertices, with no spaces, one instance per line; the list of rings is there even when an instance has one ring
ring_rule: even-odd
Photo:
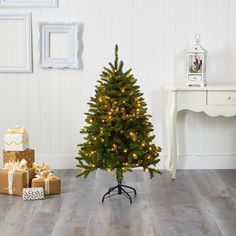
[[[117,192],[115,192],[114,194],[110,195],[115,189],[117,189]],[[134,195],[137,195],[137,192],[135,190],[135,188],[132,188],[130,186],[127,185],[123,185],[121,182],[118,182],[118,185],[116,185],[115,187],[111,187],[109,188],[108,192],[106,192],[103,197],[102,197],[102,202],[104,202],[104,200],[106,198],[112,197],[114,195],[124,195],[125,197],[127,197],[130,201],[130,204],[132,204],[132,197],[130,196],[130,194],[125,190],[125,189],[131,189],[134,191]]]

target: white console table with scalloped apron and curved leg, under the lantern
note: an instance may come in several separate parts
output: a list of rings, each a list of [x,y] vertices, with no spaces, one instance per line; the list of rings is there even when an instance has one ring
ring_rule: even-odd
[[[167,170],[175,179],[177,164],[176,120],[182,110],[205,112],[208,116],[236,115],[236,85],[209,85],[187,87],[174,85],[165,88]]]

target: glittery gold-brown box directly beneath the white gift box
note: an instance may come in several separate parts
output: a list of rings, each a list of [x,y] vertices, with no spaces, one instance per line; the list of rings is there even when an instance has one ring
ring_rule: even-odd
[[[9,161],[16,162],[25,159],[27,161],[27,166],[29,168],[33,167],[35,162],[35,153],[33,149],[26,149],[25,151],[3,151],[3,164],[8,163]]]

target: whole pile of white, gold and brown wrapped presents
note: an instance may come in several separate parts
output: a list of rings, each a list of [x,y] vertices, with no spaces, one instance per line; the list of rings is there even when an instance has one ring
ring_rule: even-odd
[[[29,148],[28,132],[20,126],[8,129],[4,136],[3,165],[0,193],[36,200],[61,192],[59,177],[47,164],[35,163],[35,151]]]

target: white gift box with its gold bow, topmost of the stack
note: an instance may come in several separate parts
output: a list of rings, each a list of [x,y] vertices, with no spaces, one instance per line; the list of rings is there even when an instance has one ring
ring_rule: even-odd
[[[27,131],[16,126],[8,129],[4,136],[4,150],[5,151],[24,151],[29,148],[29,135]]]

